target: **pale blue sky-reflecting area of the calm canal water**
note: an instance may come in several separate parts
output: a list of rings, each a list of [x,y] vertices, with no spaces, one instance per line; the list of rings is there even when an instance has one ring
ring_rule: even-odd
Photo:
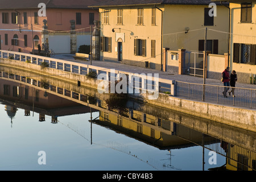
[[[1,170],[203,169],[201,146],[160,150],[108,127],[93,123],[91,130],[90,113],[59,117],[53,124],[50,117],[39,122],[38,113],[25,116],[18,108],[11,123],[6,105],[1,104],[0,115]],[[92,113],[93,118],[98,115]],[[39,151],[46,152],[45,165],[38,163]],[[225,164],[225,157],[217,155],[217,164],[210,165],[209,150],[204,152],[205,170]]]

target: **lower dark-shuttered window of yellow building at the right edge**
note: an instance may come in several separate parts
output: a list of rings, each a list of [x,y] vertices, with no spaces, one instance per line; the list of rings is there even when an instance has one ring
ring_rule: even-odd
[[[234,43],[233,62],[256,65],[256,44]]]

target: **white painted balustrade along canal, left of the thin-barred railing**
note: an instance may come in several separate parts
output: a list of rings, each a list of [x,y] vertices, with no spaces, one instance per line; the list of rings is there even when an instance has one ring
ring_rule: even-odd
[[[83,63],[77,63],[75,61],[68,61],[68,60],[60,60],[54,59],[51,57],[44,57],[38,55],[31,55],[29,53],[22,53],[22,52],[13,52],[13,51],[4,51],[0,50],[0,58],[8,59],[10,56],[13,56],[14,60],[24,61],[31,64],[40,65],[43,62],[49,64],[49,68],[52,69],[59,69],[62,71],[71,72],[74,74],[79,75],[86,75],[88,72],[94,71],[97,75],[105,74],[106,80],[112,81],[115,80],[116,77],[120,74],[124,74],[129,78],[130,85],[133,85],[134,89],[138,90],[148,90],[148,88],[154,88],[155,92],[165,92],[168,94],[175,95],[174,91],[174,81],[167,80],[164,78],[159,78],[158,75],[149,75],[149,74],[136,74],[131,72],[125,71],[117,71],[115,69],[109,69],[104,67],[97,67],[94,65],[88,65]],[[156,83],[157,82],[157,83]]]

